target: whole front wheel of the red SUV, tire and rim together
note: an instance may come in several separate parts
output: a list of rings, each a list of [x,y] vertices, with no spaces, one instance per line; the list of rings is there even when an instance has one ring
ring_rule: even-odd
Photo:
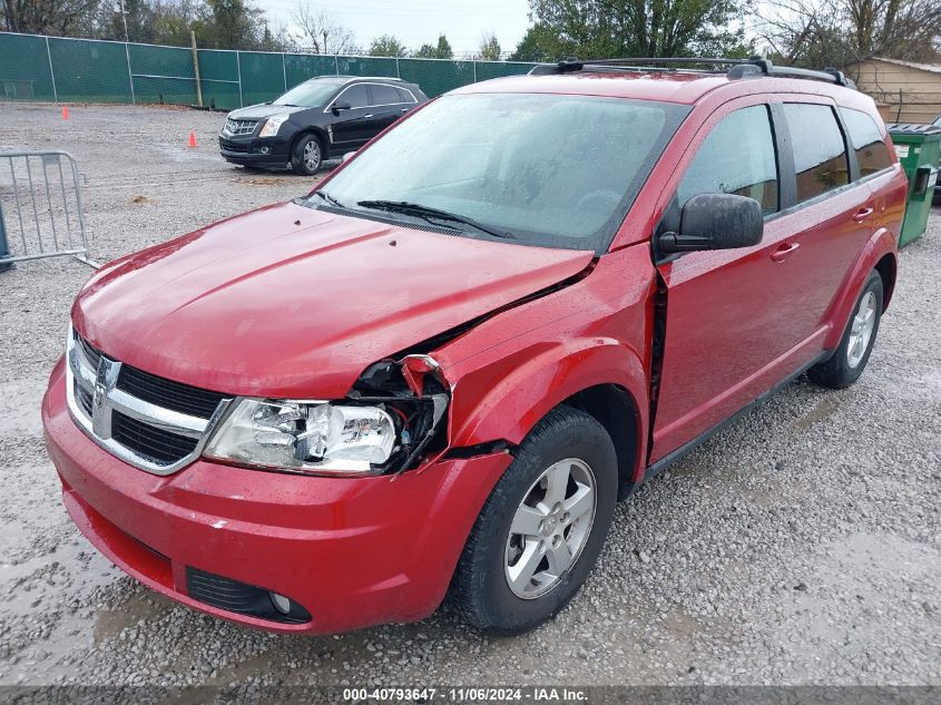
[[[553,502],[556,513],[547,517],[538,507],[523,510],[525,501],[528,508],[551,509],[542,501],[550,488],[543,476],[561,478],[565,468],[569,473],[565,499]],[[591,482],[594,498],[585,491]],[[568,604],[595,566],[611,525],[617,489],[617,456],[605,428],[582,411],[552,410],[519,447],[484,502],[458,561],[451,607],[470,625],[494,635],[521,634],[546,621]],[[559,497],[557,490],[552,493]],[[578,502],[572,501],[576,498]],[[586,511],[589,499],[594,516]],[[527,525],[535,533],[511,532],[523,526],[514,525],[518,511],[522,519],[541,519],[538,528]],[[556,561],[562,556],[574,559],[558,570]],[[530,580],[526,566],[536,566]],[[516,587],[510,585],[511,575],[519,576]]]

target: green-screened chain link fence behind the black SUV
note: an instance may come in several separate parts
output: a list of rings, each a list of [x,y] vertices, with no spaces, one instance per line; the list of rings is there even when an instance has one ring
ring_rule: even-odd
[[[532,63],[393,59],[198,49],[203,105],[233,109],[273,100],[314,76],[388,76],[429,97],[526,74]],[[0,32],[0,101],[196,105],[192,49]]]

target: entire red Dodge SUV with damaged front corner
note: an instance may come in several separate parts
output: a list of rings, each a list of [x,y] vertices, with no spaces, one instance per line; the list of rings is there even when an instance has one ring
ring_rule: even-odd
[[[905,178],[839,74],[562,63],[429,102],[306,197],[102,267],[42,409],[138,580],[292,633],[559,610],[615,502],[862,373]]]

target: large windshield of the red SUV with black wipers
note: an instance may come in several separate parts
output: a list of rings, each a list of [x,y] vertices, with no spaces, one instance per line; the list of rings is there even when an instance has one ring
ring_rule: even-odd
[[[333,206],[403,202],[493,231],[435,221],[470,237],[502,233],[522,244],[600,254],[687,112],[623,98],[444,96],[363,151],[324,190]],[[321,198],[310,204],[333,207]]]

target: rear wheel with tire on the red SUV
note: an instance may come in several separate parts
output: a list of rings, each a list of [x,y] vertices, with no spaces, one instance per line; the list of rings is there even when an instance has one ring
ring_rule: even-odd
[[[830,389],[845,389],[860,379],[879,333],[882,301],[882,277],[873,271],[853,306],[840,345],[830,360],[807,370],[811,381]],[[871,324],[868,323],[870,319],[865,317],[866,312],[871,312]]]

